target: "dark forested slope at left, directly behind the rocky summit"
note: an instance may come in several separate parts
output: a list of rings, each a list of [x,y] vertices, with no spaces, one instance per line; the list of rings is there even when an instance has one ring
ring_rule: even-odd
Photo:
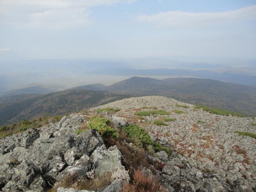
[[[92,90],[65,90],[50,94],[23,94],[0,98],[0,125],[23,118],[37,118],[77,112],[127,95]]]

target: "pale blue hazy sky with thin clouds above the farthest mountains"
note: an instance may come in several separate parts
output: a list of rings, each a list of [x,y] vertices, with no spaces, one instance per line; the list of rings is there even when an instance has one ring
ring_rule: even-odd
[[[0,0],[0,61],[256,59],[256,0]]]

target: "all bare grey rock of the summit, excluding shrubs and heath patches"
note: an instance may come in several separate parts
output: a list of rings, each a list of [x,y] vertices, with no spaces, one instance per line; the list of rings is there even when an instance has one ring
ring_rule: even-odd
[[[108,103],[88,113],[64,116],[58,123],[0,139],[0,191],[43,192],[52,188],[58,192],[120,191],[125,180],[113,179],[109,174],[124,170],[121,152],[116,146],[107,149],[94,129],[79,135],[76,132],[90,115],[102,108],[120,108],[118,112],[102,112],[113,121],[114,127],[140,125],[153,141],[172,148],[169,157],[165,151],[148,155],[161,166],[156,174],[167,191],[256,191],[256,139],[234,133],[256,133],[256,126],[251,125],[256,120],[211,114],[196,109],[195,105],[160,96]],[[165,110],[170,114],[142,117],[134,114],[146,110]],[[153,123],[166,117],[174,120],[164,121],[166,125]],[[149,169],[147,172],[152,174]],[[74,189],[76,186],[62,187],[60,184],[67,176],[109,180],[104,186],[87,191]]]

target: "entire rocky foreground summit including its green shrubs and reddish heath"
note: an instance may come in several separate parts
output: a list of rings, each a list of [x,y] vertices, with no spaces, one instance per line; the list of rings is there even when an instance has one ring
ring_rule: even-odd
[[[108,103],[1,139],[0,191],[256,191],[255,122],[160,96]]]

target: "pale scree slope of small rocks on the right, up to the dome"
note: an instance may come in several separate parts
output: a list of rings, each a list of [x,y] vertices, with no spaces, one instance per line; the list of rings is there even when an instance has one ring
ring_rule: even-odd
[[[147,108],[141,109],[143,107]],[[200,174],[217,174],[238,191],[256,190],[256,140],[234,133],[256,133],[256,127],[251,125],[255,122],[253,118],[211,114],[203,109],[195,109],[195,105],[161,96],[123,99],[94,109],[99,108],[120,108],[116,116],[141,125],[151,134],[153,140],[172,147],[190,166],[199,169]],[[156,110],[148,108],[163,109],[170,112],[170,115],[143,116],[139,119],[134,115],[138,110]],[[177,109],[185,113],[174,112]],[[176,120],[165,122],[166,126],[151,123],[162,117]],[[182,175],[179,169],[176,171],[178,175]],[[170,173],[173,176],[173,172]]]

